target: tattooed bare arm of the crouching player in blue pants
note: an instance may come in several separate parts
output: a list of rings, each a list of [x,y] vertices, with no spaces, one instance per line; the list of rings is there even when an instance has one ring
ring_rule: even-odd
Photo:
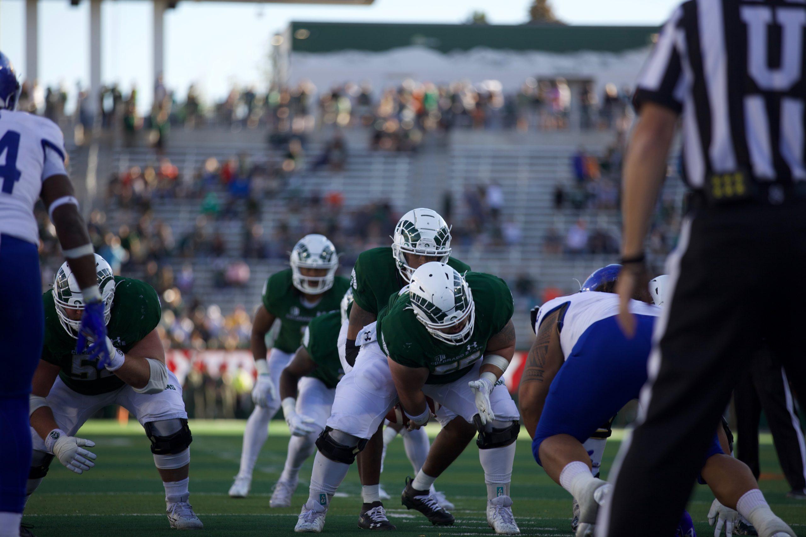
[[[559,345],[557,320],[566,307],[558,308],[542,320],[538,328],[538,337],[534,339],[526,357],[521,386],[517,390],[517,399],[521,403],[521,422],[532,438],[535,429],[538,428],[551,381],[565,361],[563,349]]]

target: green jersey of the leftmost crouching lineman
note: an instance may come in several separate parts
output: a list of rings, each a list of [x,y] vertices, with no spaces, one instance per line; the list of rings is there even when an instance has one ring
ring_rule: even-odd
[[[114,300],[106,335],[114,346],[128,353],[160,323],[160,298],[139,279],[114,277]],[[53,294],[42,296],[45,310],[45,341],[42,359],[59,366],[59,376],[71,390],[84,395],[106,394],[125,383],[106,369],[98,370],[98,360],[76,353],[76,338],[64,330],[56,314]]]

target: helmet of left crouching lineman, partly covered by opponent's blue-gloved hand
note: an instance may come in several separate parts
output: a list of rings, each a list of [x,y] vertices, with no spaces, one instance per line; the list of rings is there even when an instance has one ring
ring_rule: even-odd
[[[98,276],[98,288],[101,290],[103,300],[104,324],[109,324],[112,316],[112,300],[114,300],[114,274],[112,274],[112,267],[109,266],[109,263],[98,254],[95,254],[95,273]],[[78,287],[76,277],[67,262],[62,263],[59,271],[56,272],[51,293],[60,324],[71,336],[78,337],[81,320],[71,319],[65,310],[83,310],[84,296],[81,294],[81,287]]]

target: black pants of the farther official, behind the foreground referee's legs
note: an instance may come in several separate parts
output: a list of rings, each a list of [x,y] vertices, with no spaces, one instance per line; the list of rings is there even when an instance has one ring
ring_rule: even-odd
[[[800,430],[800,416],[781,362],[767,349],[754,357],[733,390],[736,409],[736,457],[750,466],[758,479],[758,422],[767,416],[775,452],[792,490],[806,488],[806,445]]]

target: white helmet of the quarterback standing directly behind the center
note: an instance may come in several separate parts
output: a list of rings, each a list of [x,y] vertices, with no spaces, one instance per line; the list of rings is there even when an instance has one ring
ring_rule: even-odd
[[[397,271],[408,282],[414,269],[405,254],[428,255],[434,261],[447,262],[451,255],[451,228],[432,209],[413,209],[397,221],[392,238],[392,255]]]

